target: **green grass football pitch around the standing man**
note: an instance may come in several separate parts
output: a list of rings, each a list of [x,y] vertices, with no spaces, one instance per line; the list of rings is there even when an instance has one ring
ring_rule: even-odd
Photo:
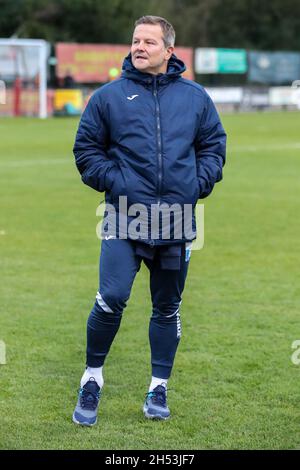
[[[168,402],[149,422],[148,272],[104,368],[99,420],[71,416],[98,287],[96,208],[72,146],[77,119],[0,121],[1,449],[300,447],[300,113],[224,115],[224,180],[205,203]]]

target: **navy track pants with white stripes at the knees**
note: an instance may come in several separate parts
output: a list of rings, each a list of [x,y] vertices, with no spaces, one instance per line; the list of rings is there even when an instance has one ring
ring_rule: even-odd
[[[89,367],[104,364],[142,260],[150,271],[152,375],[168,379],[181,336],[180,303],[189,265],[185,243],[181,248],[180,269],[166,270],[161,269],[158,255],[153,260],[136,255],[134,241],[102,240],[100,287],[87,322],[86,363]]]

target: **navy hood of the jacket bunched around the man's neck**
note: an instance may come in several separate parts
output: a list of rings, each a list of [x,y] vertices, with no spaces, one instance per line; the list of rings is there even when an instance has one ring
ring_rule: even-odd
[[[186,66],[184,62],[178,59],[175,54],[172,54],[168,61],[167,73],[159,73],[158,75],[156,75],[156,77],[160,83],[164,83],[179,78],[185,70]],[[154,75],[151,73],[143,73],[137,70],[132,63],[130,52],[128,56],[124,59],[121,76],[123,78],[129,78],[131,80],[152,83]]]

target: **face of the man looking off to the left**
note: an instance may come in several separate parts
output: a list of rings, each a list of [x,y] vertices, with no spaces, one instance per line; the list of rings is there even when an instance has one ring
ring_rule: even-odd
[[[134,32],[131,46],[132,63],[143,73],[166,73],[174,48],[165,47],[160,25],[140,24]]]

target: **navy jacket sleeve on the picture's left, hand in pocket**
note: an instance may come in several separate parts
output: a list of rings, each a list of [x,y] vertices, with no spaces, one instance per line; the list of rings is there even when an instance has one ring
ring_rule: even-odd
[[[108,130],[99,96],[93,95],[82,114],[73,152],[82,181],[96,191],[112,186],[116,164],[107,156]]]

